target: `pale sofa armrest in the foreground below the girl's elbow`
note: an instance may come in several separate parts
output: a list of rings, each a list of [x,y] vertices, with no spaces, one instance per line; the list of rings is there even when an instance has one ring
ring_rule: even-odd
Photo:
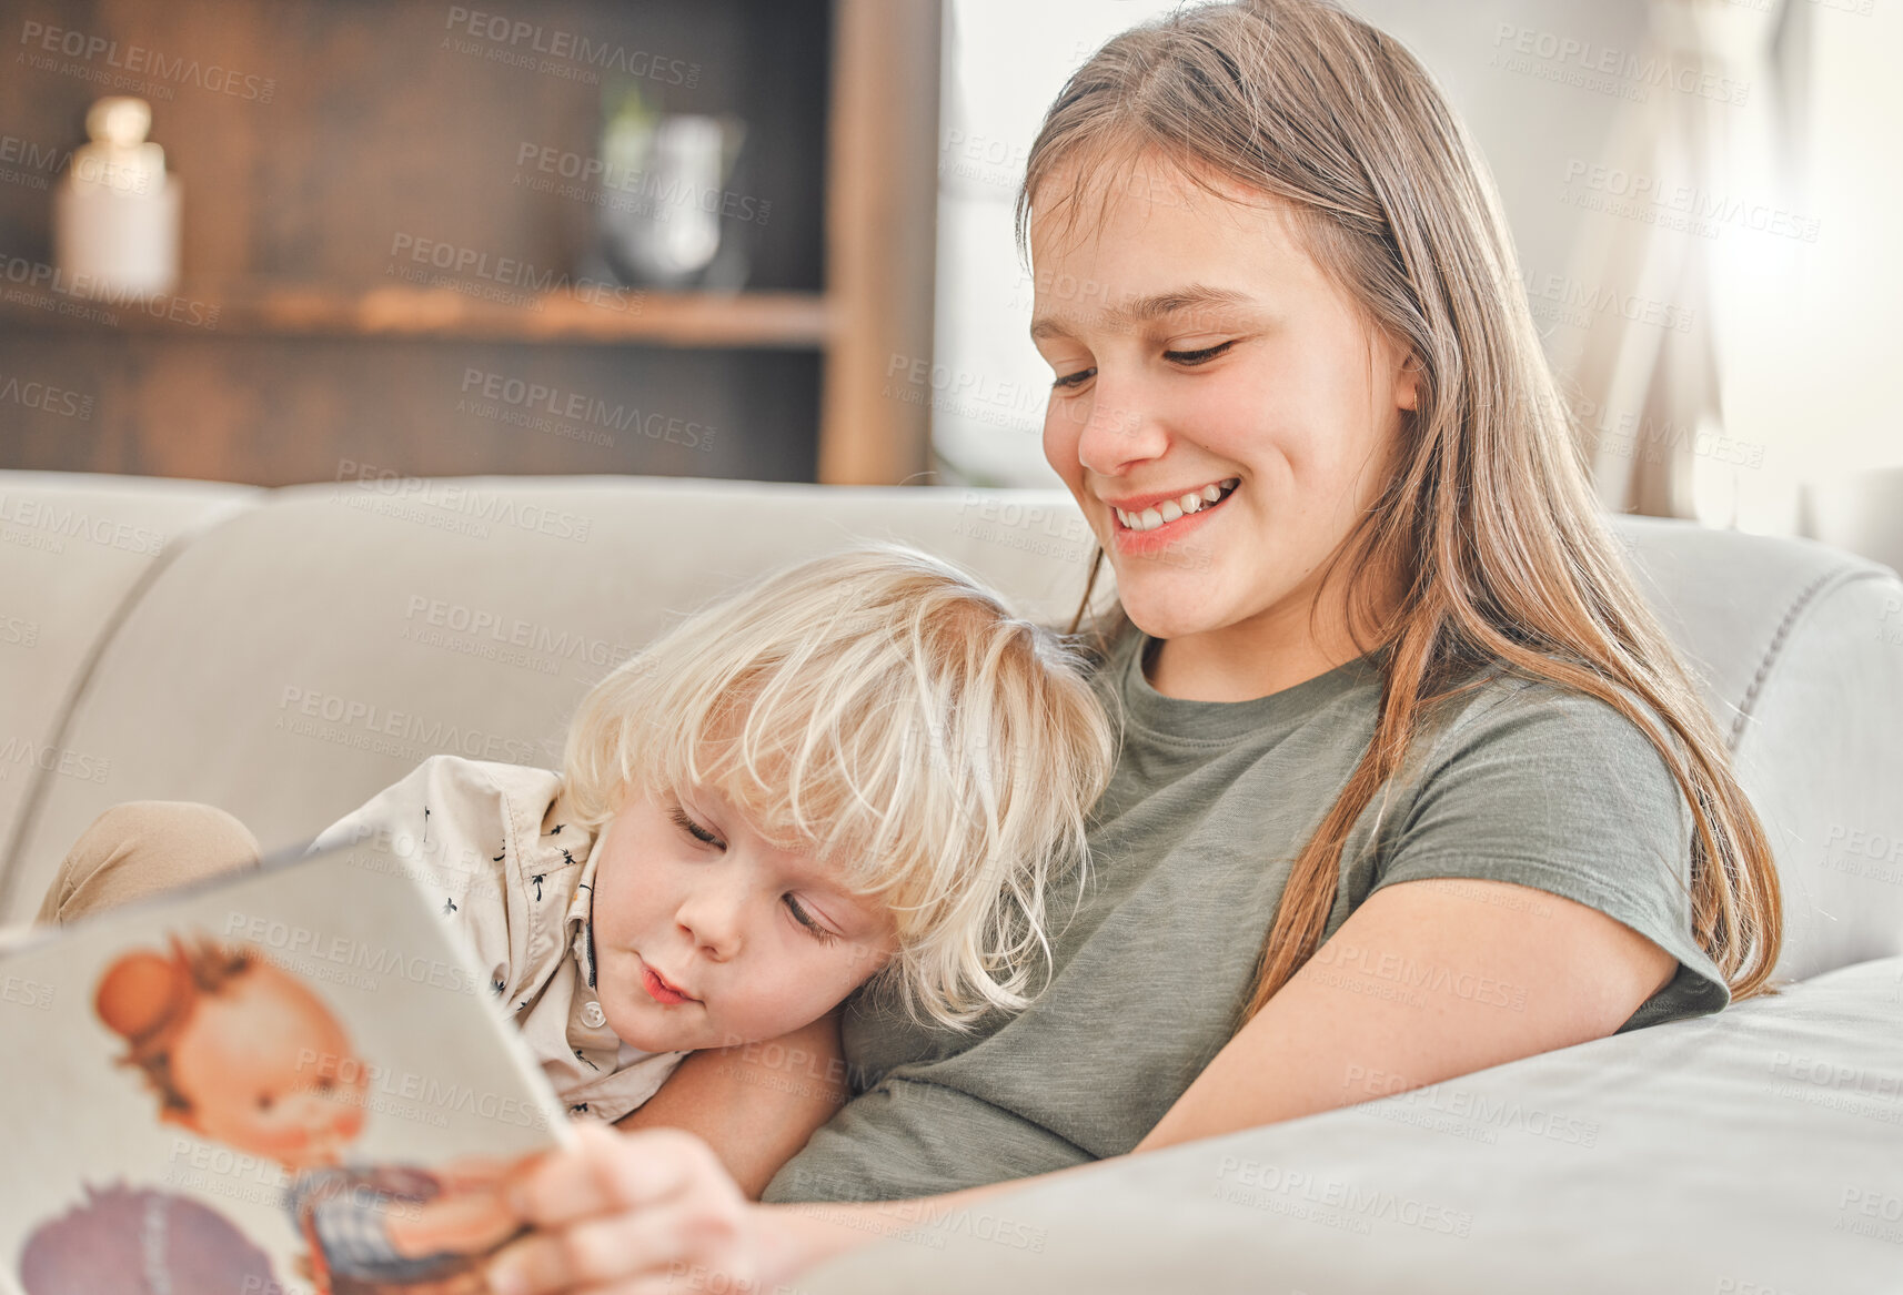
[[[1903,958],[1718,1015],[1068,1171],[811,1295],[1892,1295]]]

